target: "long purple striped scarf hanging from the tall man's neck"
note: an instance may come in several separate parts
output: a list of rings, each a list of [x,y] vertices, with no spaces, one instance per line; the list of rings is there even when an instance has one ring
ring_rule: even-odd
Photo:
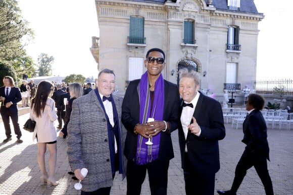
[[[148,72],[145,72],[140,79],[139,83],[139,123],[146,123],[151,116],[155,120],[163,120],[164,113],[164,79],[162,74],[155,82],[155,97],[153,102],[153,108],[151,110],[151,95],[150,95],[150,83],[148,80]],[[137,139],[137,151],[136,159],[134,161],[138,165],[144,165],[150,163],[158,158],[160,147],[161,133],[157,134],[151,139],[153,145],[146,145],[149,139],[143,138],[138,135]]]

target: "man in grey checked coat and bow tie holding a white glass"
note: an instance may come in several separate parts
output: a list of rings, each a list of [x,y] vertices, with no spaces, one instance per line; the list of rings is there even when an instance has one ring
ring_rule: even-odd
[[[112,94],[113,71],[102,70],[96,86],[73,101],[68,124],[68,161],[75,176],[82,180],[81,194],[110,194],[116,171],[122,178],[126,176],[123,98]],[[80,172],[84,167],[88,169],[86,177]]]

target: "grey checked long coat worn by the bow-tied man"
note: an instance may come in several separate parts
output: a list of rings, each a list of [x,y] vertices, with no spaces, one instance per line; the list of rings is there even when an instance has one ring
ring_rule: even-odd
[[[122,151],[127,131],[121,122],[123,98],[113,95],[121,129]],[[95,191],[113,185],[107,119],[94,90],[73,101],[68,123],[68,161],[71,169],[87,168],[81,181],[83,191]],[[126,157],[122,154],[123,175],[126,176]]]

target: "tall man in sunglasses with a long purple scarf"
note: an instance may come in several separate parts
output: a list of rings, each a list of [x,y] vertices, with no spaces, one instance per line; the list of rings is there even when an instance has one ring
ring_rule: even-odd
[[[146,170],[152,194],[167,194],[168,168],[174,158],[171,132],[178,126],[178,87],[165,81],[165,53],[159,48],[146,53],[147,71],[131,81],[122,104],[122,122],[127,129],[127,194],[140,194]],[[147,122],[154,118],[154,122]],[[151,139],[153,145],[146,145]]]

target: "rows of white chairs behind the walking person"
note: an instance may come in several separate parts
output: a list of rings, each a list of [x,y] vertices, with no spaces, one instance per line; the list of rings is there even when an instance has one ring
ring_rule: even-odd
[[[245,120],[248,111],[246,108],[222,108],[223,118],[226,123],[231,122],[232,127],[241,125]],[[271,125],[272,129],[279,125],[279,129],[286,126],[286,129],[291,129],[293,125],[293,113],[288,113],[287,110],[261,110],[267,126]]]

